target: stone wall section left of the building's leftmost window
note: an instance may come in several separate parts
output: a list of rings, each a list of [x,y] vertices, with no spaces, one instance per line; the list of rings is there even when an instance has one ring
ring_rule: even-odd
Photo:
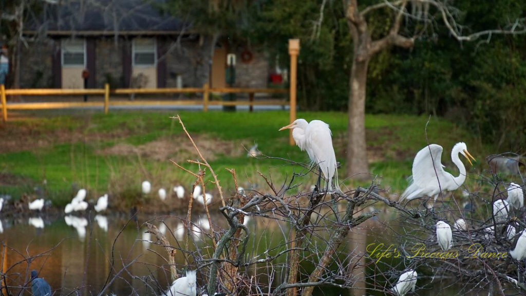
[[[46,39],[22,46],[20,58],[21,88],[53,87],[53,53],[56,44]]]

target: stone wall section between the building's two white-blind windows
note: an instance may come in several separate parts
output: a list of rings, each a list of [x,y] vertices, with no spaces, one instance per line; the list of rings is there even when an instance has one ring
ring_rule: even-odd
[[[103,88],[105,83],[110,87],[123,87],[123,46],[125,42],[114,38],[99,38],[95,43],[96,87]]]

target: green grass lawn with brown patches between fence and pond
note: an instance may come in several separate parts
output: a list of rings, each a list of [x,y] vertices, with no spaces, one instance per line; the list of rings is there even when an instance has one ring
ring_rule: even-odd
[[[44,114],[44,115],[43,115]],[[271,174],[280,184],[292,173],[305,172],[288,159],[306,162],[306,153],[289,146],[288,132],[278,129],[288,124],[288,112],[188,112],[133,111],[85,113],[70,116],[23,116],[0,126],[0,136],[6,140],[0,147],[0,194],[19,198],[33,193],[33,187],[43,184],[47,195],[56,204],[63,204],[73,195],[73,184],[87,188],[91,197],[105,192],[116,195],[139,195],[140,183],[150,180],[153,190],[183,184],[188,189],[193,178],[168,161],[173,157],[187,169],[196,172],[197,165],[185,162],[197,159],[191,154],[190,142],[183,135],[177,120],[179,114],[188,132],[195,137],[209,163],[227,190],[234,186],[225,168],[236,169],[240,186],[256,184],[264,188],[257,171]],[[333,133],[340,183],[356,186],[359,182],[345,174],[347,114],[337,112],[300,112],[298,117],[327,122]],[[425,144],[424,126],[428,117],[408,115],[367,115],[367,144],[370,171],[378,174],[381,185],[398,193],[407,185],[414,154]],[[484,147],[466,131],[446,120],[432,118],[428,126],[431,143],[444,147],[442,162],[452,169],[449,152],[456,142],[466,142],[478,160],[485,156]],[[249,149],[258,143],[267,156],[279,158],[249,158],[242,145]],[[135,149],[135,150],[134,150]],[[479,162],[480,165],[480,162]],[[471,169],[472,171],[473,169]],[[451,170],[457,173],[456,169]],[[207,172],[207,176],[210,174]],[[295,179],[309,187],[315,177]],[[44,186],[44,185],[43,185]]]

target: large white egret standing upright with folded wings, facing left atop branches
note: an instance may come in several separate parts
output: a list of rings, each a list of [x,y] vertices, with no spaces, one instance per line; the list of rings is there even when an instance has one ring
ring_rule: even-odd
[[[305,119],[297,119],[279,130],[286,129],[292,129],[292,138],[296,145],[301,151],[307,152],[313,163],[319,165],[327,181],[328,191],[332,190],[332,177],[334,176],[336,176],[335,186],[338,188],[336,155],[332,147],[332,133],[329,125],[321,120],[307,123]]]

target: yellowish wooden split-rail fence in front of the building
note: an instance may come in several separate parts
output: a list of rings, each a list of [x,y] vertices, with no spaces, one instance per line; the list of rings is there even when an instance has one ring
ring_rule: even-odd
[[[209,105],[238,106],[249,105],[250,111],[254,105],[289,105],[284,100],[254,100],[255,93],[268,94],[286,94],[287,89],[276,88],[210,88],[208,83],[203,87],[187,88],[116,88],[110,89],[109,84],[105,84],[103,89],[64,89],[64,88],[42,88],[42,89],[13,89],[6,90],[4,85],[0,85],[0,100],[2,104],[2,118],[7,121],[7,110],[36,110],[36,109],[56,109],[56,108],[73,108],[73,107],[94,107],[104,108],[107,114],[109,106],[134,106],[134,105],[199,105],[203,104],[203,111],[208,111]],[[202,100],[164,100],[164,101],[147,101],[147,100],[111,100],[110,95],[123,94],[177,94],[177,93],[202,93]],[[210,93],[248,93],[248,101],[218,101],[210,100]],[[35,102],[35,103],[7,103],[6,97],[13,95],[26,96],[63,96],[63,95],[104,95],[104,101],[92,102]]]

